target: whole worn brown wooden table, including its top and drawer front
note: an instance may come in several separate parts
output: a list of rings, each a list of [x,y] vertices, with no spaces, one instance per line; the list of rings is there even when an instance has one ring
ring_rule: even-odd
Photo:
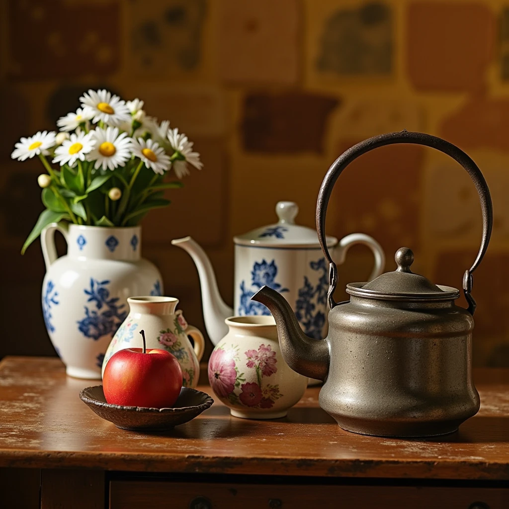
[[[432,440],[343,431],[319,407],[319,388],[282,419],[232,417],[216,399],[173,431],[136,433],[79,400],[97,381],[66,377],[58,359],[7,357],[0,507],[508,509],[509,370],[475,380],[479,413]]]

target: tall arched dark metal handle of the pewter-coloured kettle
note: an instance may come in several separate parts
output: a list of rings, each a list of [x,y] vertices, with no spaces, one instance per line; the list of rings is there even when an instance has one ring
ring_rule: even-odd
[[[424,145],[426,147],[432,147],[458,161],[468,172],[470,178],[475,184],[477,193],[479,194],[480,206],[483,212],[483,238],[480,243],[479,252],[475,259],[472,267],[465,271],[463,276],[463,291],[465,298],[468,302],[468,312],[473,315],[475,311],[475,300],[471,296],[473,277],[472,272],[477,268],[483,259],[486,249],[488,249],[488,243],[490,242],[491,230],[493,227],[493,206],[491,203],[490,190],[488,184],[480,172],[478,166],[473,160],[465,154],[461,149],[456,147],[449,142],[446,142],[442,138],[432,136],[431,134],[425,134],[421,132],[411,132],[403,130],[401,132],[391,132],[387,134],[380,134],[373,138],[365,139],[363,142],[354,145],[347,151],[343,152],[330,166],[329,171],[323,179],[320,192],[318,193],[317,202],[317,232],[320,245],[325,254],[325,258],[329,262],[329,291],[327,293],[327,299],[330,308],[332,309],[338,303],[334,301],[333,294],[337,285],[337,267],[332,261],[329,250],[327,249],[327,243],[325,241],[325,217],[327,214],[327,205],[329,203],[330,193],[337,180],[337,177],[341,175],[341,172],[357,157],[369,152],[370,150],[384,145],[394,145],[399,143],[412,143],[416,145]]]

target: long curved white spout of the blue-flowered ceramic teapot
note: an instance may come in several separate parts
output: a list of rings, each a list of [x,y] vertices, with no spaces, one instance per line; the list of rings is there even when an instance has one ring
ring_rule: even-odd
[[[214,269],[202,247],[191,237],[172,240],[172,244],[186,250],[198,269],[205,328],[215,346],[228,333],[228,325],[224,320],[233,315],[233,309],[222,300]]]

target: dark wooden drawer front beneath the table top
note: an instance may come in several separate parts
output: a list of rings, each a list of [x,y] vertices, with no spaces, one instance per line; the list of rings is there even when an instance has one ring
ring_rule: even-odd
[[[472,505],[474,502],[482,502]],[[483,503],[485,505],[483,505]],[[110,509],[507,509],[509,489],[112,481]]]

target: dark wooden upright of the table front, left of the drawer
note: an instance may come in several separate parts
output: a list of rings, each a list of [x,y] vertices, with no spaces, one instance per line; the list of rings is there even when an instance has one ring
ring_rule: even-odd
[[[42,470],[41,509],[103,509],[102,470]]]

